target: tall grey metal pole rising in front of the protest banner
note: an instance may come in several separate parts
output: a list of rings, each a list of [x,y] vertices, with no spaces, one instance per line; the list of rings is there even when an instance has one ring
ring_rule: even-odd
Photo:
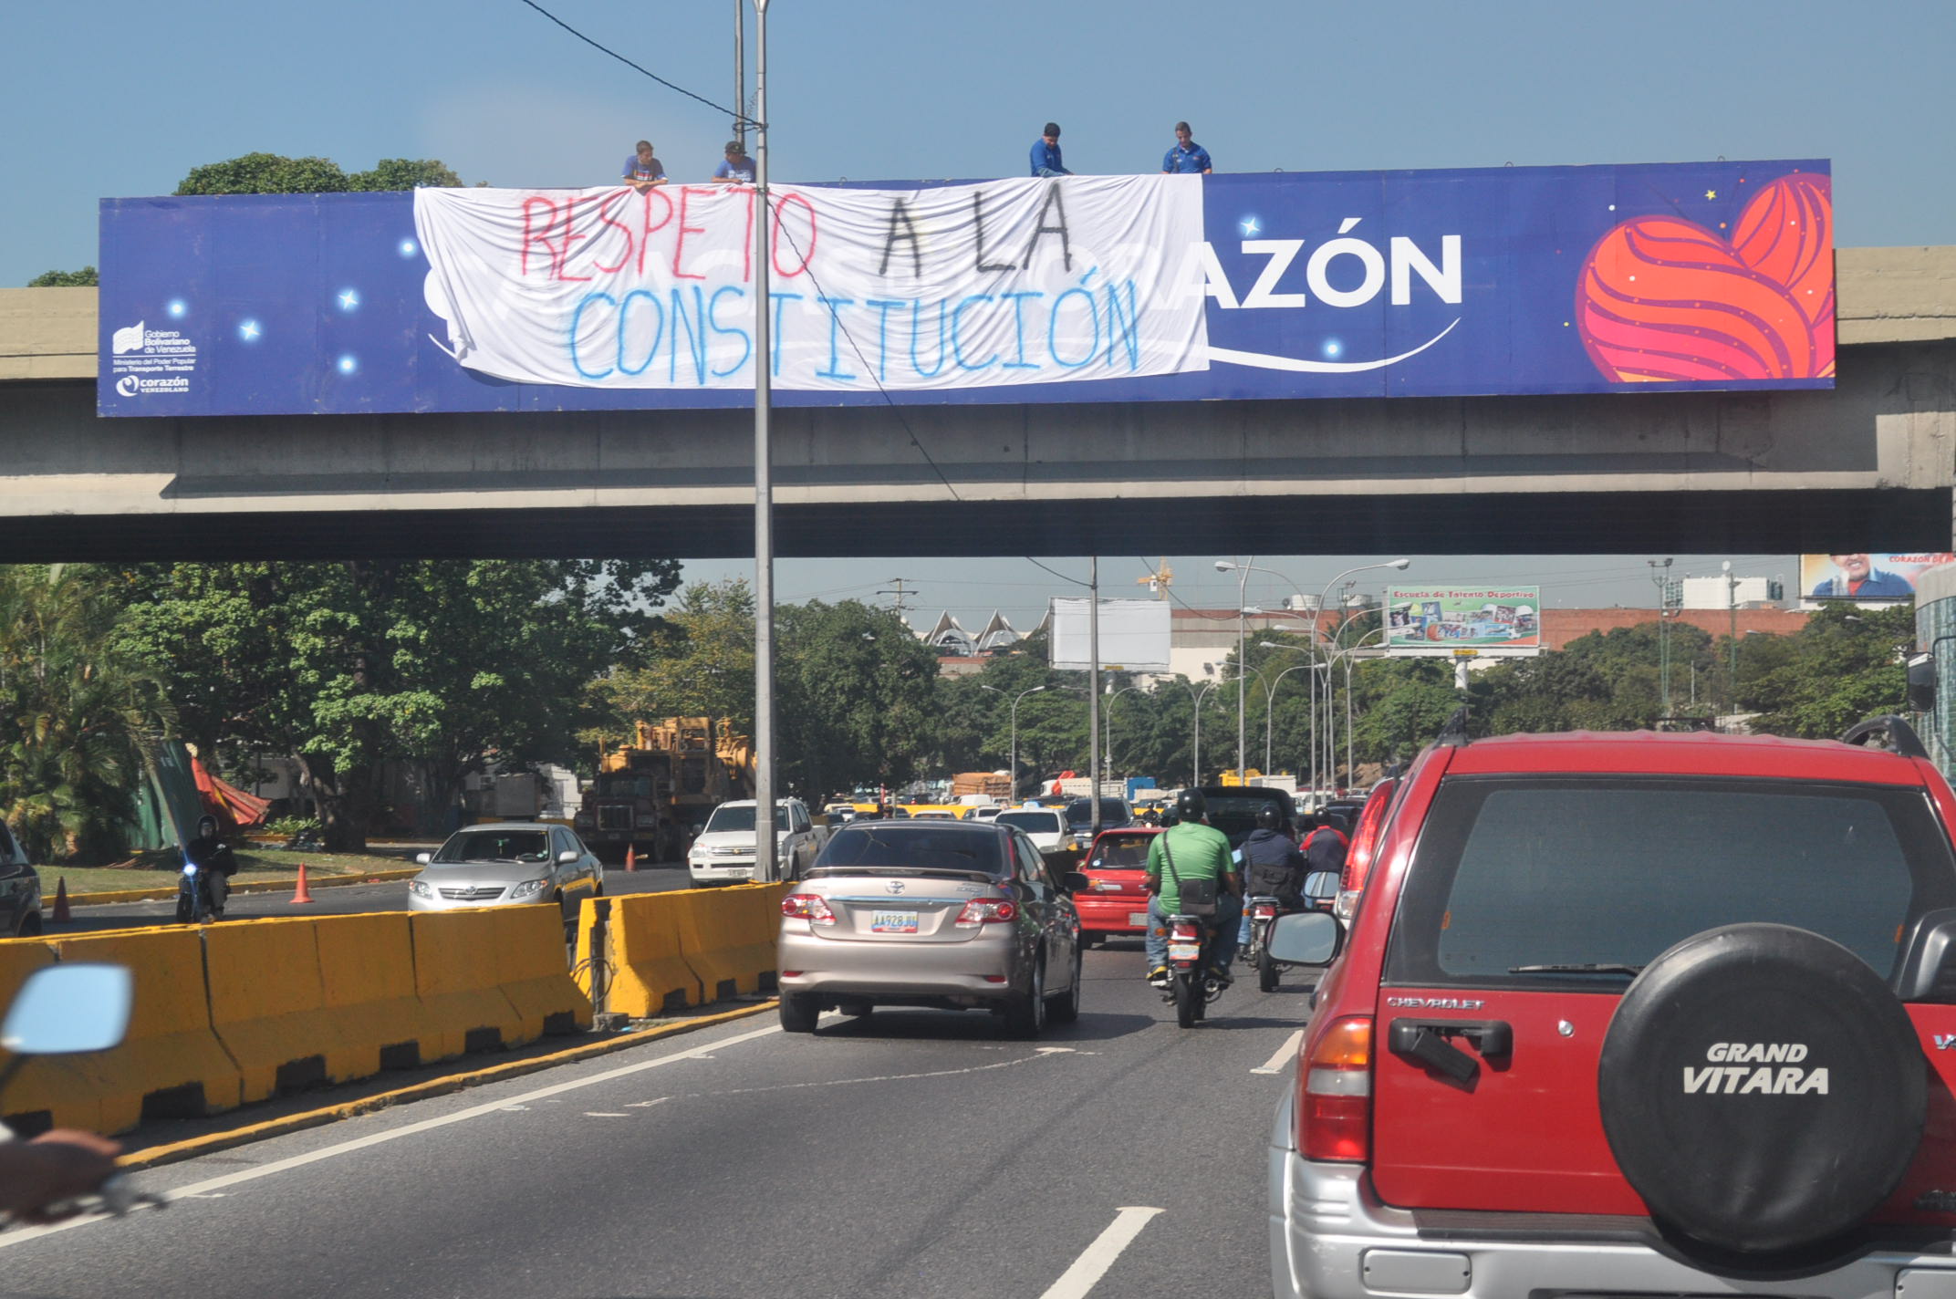
[[[753,0],[755,12],[755,203],[753,203],[753,798],[759,824],[775,820],[775,446],[767,426],[773,405],[767,270],[769,270],[769,190],[767,190],[767,0]],[[759,865],[759,857],[755,857]],[[780,855],[771,851],[765,880],[780,878]]]

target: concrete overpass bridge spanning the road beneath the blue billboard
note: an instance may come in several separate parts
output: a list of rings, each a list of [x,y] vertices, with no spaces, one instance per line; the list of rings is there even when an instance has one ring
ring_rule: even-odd
[[[788,409],[782,556],[1952,548],[1956,248],[1839,248],[1839,385]],[[0,290],[0,556],[734,558],[751,413],[98,419],[96,290]]]

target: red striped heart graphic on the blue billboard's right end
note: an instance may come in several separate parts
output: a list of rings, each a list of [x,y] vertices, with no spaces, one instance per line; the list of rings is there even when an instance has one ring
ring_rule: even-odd
[[[1616,383],[1833,376],[1829,178],[1774,180],[1731,243],[1680,217],[1623,221],[1582,262],[1577,327]]]

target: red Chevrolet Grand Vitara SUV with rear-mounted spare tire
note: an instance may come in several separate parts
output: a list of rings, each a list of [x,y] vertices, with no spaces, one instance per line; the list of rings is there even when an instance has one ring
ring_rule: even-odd
[[[1956,800],[1845,739],[1424,751],[1350,941],[1271,939],[1275,1293],[1956,1295]]]

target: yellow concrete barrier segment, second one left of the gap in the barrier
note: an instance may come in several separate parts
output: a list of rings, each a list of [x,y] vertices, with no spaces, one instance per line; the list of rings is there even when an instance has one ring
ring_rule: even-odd
[[[415,939],[405,912],[293,923],[313,927],[325,1017],[354,1054],[350,1078],[415,1068],[442,1054],[440,1033],[424,1023],[415,994]],[[334,1070],[331,1056],[327,1068]]]

